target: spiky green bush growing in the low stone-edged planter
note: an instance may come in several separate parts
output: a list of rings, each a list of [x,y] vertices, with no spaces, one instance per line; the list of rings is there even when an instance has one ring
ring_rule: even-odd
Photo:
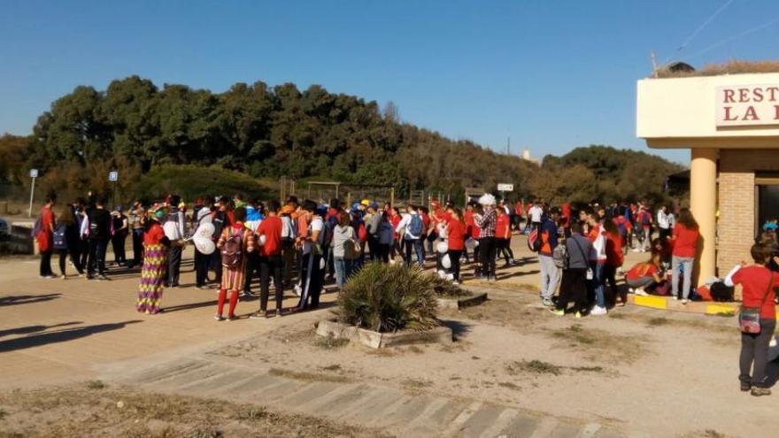
[[[377,332],[438,326],[436,278],[419,268],[369,263],[338,296],[339,318]]]

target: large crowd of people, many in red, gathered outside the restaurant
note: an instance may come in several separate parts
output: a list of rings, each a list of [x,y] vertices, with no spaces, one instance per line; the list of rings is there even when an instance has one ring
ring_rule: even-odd
[[[236,318],[240,297],[255,295],[251,287],[257,277],[259,306],[252,319],[316,309],[328,280],[343,288],[367,262],[424,267],[430,258],[436,274],[455,284],[468,264],[475,279],[495,281],[497,260],[503,258],[506,266],[517,263],[514,233],[528,234],[528,247],[538,254],[541,304],[559,316],[605,315],[624,306],[628,292],[668,295],[682,304],[695,293],[692,273],[700,236],[688,209],[672,212],[661,206],[652,214],[644,203],[576,209],[540,200],[509,205],[490,194],[471,200],[464,210],[437,200],[429,205],[400,208],[369,199],[316,204],[295,196],[282,205],[234,196],[206,197],[188,206],[172,195],[153,204],[136,201],[125,213],[121,207],[106,209],[104,196],[58,208],[56,196],[50,195],[33,235],[41,253],[40,275],[47,279],[56,278],[50,266],[56,253],[60,278],[67,278],[70,258],[79,276],[108,280],[105,258],[111,243],[114,265],[141,268],[136,309],[146,314],[163,311],[164,288],[180,286],[182,250],[194,240],[195,286],[218,290],[214,319],[220,321]],[[764,228],[752,248],[754,264],[737,265],[721,280],[723,288],[743,287],[739,379],[741,388],[755,396],[770,394],[765,367],[775,330],[774,289],[779,287],[779,244],[775,229]],[[132,258],[125,253],[128,236]],[[624,271],[629,250],[649,257]],[[628,288],[618,287],[618,274]],[[271,279],[274,312],[268,311]],[[299,296],[287,310],[282,308],[285,289]]]

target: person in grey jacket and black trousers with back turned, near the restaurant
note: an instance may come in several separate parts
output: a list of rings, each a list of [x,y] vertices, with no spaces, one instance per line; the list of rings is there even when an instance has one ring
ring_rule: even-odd
[[[592,242],[582,235],[582,223],[574,220],[570,224],[571,235],[565,241],[567,267],[563,269],[560,280],[559,297],[555,308],[556,315],[563,316],[568,305],[573,303],[576,318],[582,318],[587,311],[587,272],[590,270],[590,251]]]

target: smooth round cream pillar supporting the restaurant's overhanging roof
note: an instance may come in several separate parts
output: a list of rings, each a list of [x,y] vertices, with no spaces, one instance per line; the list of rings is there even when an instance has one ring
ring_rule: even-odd
[[[698,286],[716,273],[717,154],[715,148],[694,148],[690,160],[690,211],[703,241],[698,257]]]

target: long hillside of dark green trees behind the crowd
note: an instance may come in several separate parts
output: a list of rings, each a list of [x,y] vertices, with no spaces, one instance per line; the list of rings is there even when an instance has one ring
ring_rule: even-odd
[[[35,167],[43,189],[83,194],[109,189],[113,169],[125,197],[153,190],[149,175],[165,178],[155,170],[184,165],[193,173],[210,167],[262,181],[393,184],[399,196],[412,189],[459,196],[466,187],[512,182],[515,196],[551,201],[660,198],[666,175],[680,170],[662,158],[605,147],[546,157],[539,166],[403,123],[393,104],[382,109],[318,85],[301,91],[258,81],[212,93],[158,88],[137,76],[104,91],[75,88],[38,118],[33,134],[0,137],[0,154],[0,185],[27,184],[27,169]],[[218,192],[220,181],[213,184]]]

